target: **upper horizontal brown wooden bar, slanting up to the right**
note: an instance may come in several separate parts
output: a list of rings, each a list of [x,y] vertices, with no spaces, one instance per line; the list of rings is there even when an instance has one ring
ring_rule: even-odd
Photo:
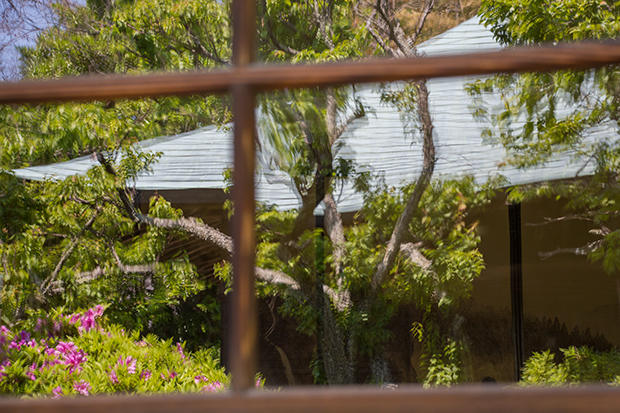
[[[500,52],[314,65],[263,65],[204,72],[91,76],[0,84],[0,104],[256,92],[492,73],[586,69],[620,63],[620,42],[517,47]]]

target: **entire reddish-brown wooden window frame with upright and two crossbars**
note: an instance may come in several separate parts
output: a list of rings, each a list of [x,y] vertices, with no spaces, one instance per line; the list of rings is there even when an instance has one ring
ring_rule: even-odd
[[[421,412],[612,412],[620,390],[488,386],[424,390],[368,387],[253,391],[256,366],[254,296],[254,156],[256,93],[267,90],[395,81],[498,72],[584,69],[620,63],[620,43],[514,48],[502,52],[433,58],[371,60],[331,65],[254,64],[256,5],[233,0],[234,67],[194,73],[106,76],[0,84],[0,104],[109,100],[230,92],[235,117],[233,180],[234,286],[229,342],[232,391],[224,395],[93,397],[65,400],[0,400],[3,413],[202,412],[202,411],[421,411]]]

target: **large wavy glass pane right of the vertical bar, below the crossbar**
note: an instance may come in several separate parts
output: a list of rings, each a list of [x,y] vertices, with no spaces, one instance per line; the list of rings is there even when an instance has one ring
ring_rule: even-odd
[[[613,234],[618,127],[606,70],[262,95],[257,265],[281,278],[259,283],[261,369],[278,385],[517,373],[544,384],[556,379],[534,375],[540,352],[559,363],[560,348],[613,349],[614,250],[601,235]],[[545,88],[572,76],[583,95]],[[586,103],[593,94],[601,106]]]

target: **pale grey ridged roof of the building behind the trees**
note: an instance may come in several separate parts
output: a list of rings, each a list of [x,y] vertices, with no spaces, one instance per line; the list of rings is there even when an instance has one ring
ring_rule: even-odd
[[[491,32],[480,25],[478,18],[468,20],[418,46],[418,50],[427,56],[500,49],[501,46],[493,40]],[[581,165],[571,163],[568,158],[556,159],[536,170],[500,168],[505,151],[499,146],[483,142],[481,132],[485,125],[474,120],[472,99],[464,91],[464,86],[475,79],[431,79],[427,83],[433,136],[437,146],[436,177],[473,175],[478,182],[483,182],[489,176],[501,173],[510,184],[522,184],[575,175]],[[413,181],[422,164],[419,132],[413,130],[405,133],[406,122],[393,106],[381,102],[378,86],[358,86],[355,93],[371,110],[363,119],[354,121],[343,134],[340,140],[344,146],[338,156],[355,160],[358,170],[383,175],[389,186]],[[487,103],[494,106],[500,102],[491,96],[487,98]],[[260,118],[263,115],[258,112],[258,116]],[[591,139],[605,137],[612,132],[609,128],[598,128],[592,131]],[[137,189],[223,188],[222,172],[232,165],[230,130],[210,127],[143,141],[140,145],[145,150],[163,152],[163,156],[153,166],[152,173],[137,180]],[[300,197],[290,177],[285,172],[270,169],[267,162],[261,162],[264,158],[259,156],[257,199],[276,204],[281,210],[298,208]],[[33,180],[64,178],[84,173],[94,162],[86,156],[54,165],[24,168],[15,173],[18,177]],[[581,171],[588,172],[588,169]],[[336,191],[336,201],[342,212],[356,211],[362,205],[361,195],[355,193],[350,185]],[[316,213],[322,213],[320,207]]]

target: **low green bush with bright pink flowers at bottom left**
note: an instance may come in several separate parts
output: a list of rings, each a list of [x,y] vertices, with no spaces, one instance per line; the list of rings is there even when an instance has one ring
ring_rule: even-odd
[[[104,308],[33,314],[0,326],[0,394],[89,396],[98,393],[224,391],[229,377],[216,350],[185,353],[182,343],[102,328]]]

